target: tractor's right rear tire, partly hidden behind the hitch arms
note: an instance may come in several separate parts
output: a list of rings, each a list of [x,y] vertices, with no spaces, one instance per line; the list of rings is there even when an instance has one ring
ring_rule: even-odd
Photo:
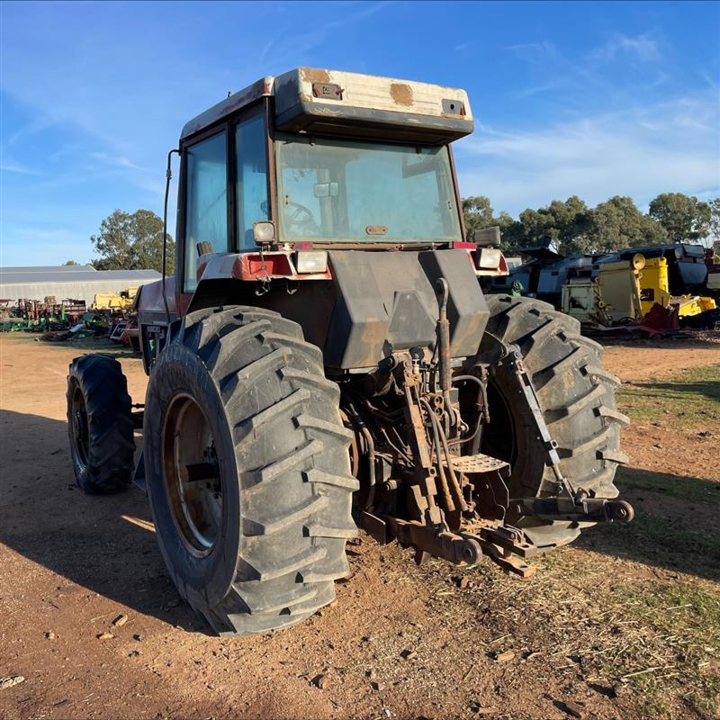
[[[558,443],[563,474],[598,498],[615,498],[620,430],[628,419],[616,409],[619,380],[601,364],[602,347],[580,333],[580,323],[531,298],[488,295],[487,331],[520,348],[536,389],[550,434]],[[527,402],[504,367],[489,383],[491,422],[482,452],[511,464],[511,497],[553,496],[554,473],[545,463],[545,448]],[[541,548],[572,542],[590,524],[549,522],[534,517],[509,518],[524,527]]]

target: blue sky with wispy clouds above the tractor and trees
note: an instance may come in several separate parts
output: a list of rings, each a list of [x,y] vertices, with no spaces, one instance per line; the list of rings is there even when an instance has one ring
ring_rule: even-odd
[[[461,192],[498,211],[720,189],[717,3],[2,2],[0,265],[161,214],[184,121],[298,65],[464,87]]]

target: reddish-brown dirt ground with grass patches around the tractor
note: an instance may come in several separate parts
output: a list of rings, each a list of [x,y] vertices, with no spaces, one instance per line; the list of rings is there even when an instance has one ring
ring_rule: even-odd
[[[363,535],[336,605],[240,639],[180,602],[140,491],[77,489],[78,354],[0,336],[0,679],[24,678],[1,717],[720,716],[720,344],[608,348],[634,417],[617,481],[633,524],[534,561],[529,581],[417,567]],[[142,401],[140,361],[121,362]]]

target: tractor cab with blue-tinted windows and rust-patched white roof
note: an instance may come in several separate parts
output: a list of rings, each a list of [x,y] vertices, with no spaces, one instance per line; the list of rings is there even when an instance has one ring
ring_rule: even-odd
[[[300,67],[230,95],[180,138],[181,295],[205,276],[200,243],[259,243],[285,256],[266,277],[302,280],[323,256],[297,252],[461,242],[449,143],[472,131],[467,95],[439,85]]]

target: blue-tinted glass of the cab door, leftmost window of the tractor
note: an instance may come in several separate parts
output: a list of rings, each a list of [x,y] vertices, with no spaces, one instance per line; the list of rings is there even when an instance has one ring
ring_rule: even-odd
[[[197,244],[212,243],[216,253],[228,247],[228,175],[225,132],[187,148],[184,292],[197,286]]]

